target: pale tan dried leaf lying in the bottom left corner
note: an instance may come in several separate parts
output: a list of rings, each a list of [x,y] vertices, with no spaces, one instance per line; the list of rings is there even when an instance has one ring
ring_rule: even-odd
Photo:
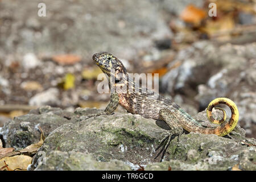
[[[26,170],[31,164],[32,158],[27,155],[16,155],[0,159],[0,167],[2,170],[13,171],[14,169]]]

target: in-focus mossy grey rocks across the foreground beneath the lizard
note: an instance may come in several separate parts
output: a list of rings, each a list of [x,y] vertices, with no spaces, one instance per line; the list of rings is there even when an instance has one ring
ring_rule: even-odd
[[[239,125],[226,137],[189,133],[172,140],[163,162],[154,159],[167,126],[140,115],[115,113],[84,120],[97,109],[77,108],[74,113],[49,106],[16,117],[0,130],[5,147],[16,150],[46,140],[30,170],[241,170],[256,169],[256,140],[246,138]],[[221,117],[221,112],[216,113]],[[207,119],[203,111],[197,119]],[[205,123],[209,125],[209,123]],[[26,142],[24,142],[26,141]],[[140,167],[140,166],[141,167]]]

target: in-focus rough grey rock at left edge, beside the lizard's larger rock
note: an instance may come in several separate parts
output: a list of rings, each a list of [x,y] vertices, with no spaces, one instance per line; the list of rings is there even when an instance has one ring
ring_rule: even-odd
[[[68,111],[49,106],[40,107],[37,110],[31,110],[29,114],[10,119],[0,128],[0,135],[5,140],[6,147],[14,147],[15,150],[19,150],[39,142],[38,126],[42,128],[47,137],[51,131],[64,123],[76,122],[73,120],[75,117],[75,114]]]

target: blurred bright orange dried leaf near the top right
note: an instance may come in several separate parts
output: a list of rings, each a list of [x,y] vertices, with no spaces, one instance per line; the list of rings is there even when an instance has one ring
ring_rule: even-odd
[[[204,10],[201,10],[193,5],[188,5],[181,12],[180,18],[187,23],[193,23],[195,25],[199,25],[201,20],[206,17],[206,13]]]

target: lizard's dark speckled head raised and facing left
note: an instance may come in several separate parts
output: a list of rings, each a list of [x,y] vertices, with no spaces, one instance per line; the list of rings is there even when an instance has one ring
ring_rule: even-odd
[[[109,77],[111,73],[114,73],[115,77],[117,73],[127,74],[122,62],[108,52],[94,53],[93,60],[101,68],[102,72],[106,73]]]

